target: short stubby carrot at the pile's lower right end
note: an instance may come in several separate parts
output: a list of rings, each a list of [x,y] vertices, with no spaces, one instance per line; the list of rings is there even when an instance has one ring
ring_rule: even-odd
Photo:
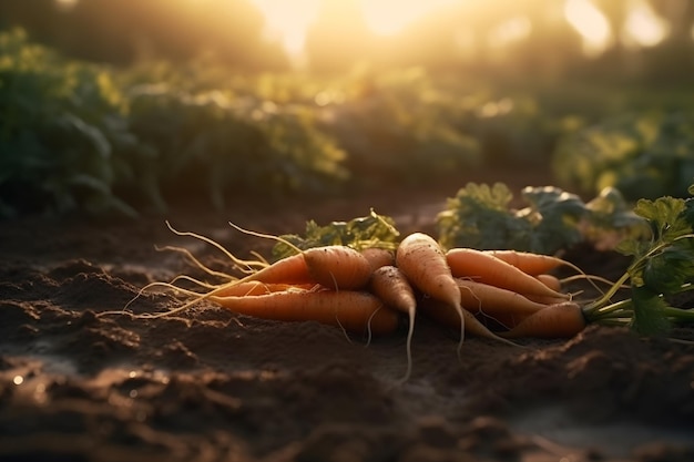
[[[564,301],[529,316],[508,332],[499,335],[504,338],[570,338],[585,329],[586,324],[581,306]]]

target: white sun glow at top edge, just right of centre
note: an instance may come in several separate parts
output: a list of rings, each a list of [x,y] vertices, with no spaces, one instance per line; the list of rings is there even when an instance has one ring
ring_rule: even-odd
[[[361,0],[369,29],[380,35],[391,35],[426,13],[459,0]]]

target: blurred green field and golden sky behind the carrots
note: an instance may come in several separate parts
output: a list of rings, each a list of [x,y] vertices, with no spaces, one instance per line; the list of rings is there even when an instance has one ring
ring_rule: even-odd
[[[0,216],[494,168],[683,195],[693,75],[691,0],[3,0]]]

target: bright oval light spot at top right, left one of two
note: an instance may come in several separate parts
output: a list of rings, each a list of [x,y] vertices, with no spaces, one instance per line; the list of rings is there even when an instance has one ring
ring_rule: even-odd
[[[567,0],[564,18],[583,37],[585,54],[600,54],[610,45],[612,39],[610,23],[590,0]]]

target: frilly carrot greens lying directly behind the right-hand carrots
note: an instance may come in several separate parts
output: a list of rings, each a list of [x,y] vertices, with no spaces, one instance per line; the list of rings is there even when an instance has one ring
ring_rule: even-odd
[[[527,206],[514,208],[504,184],[468,183],[437,215],[441,245],[554,254],[596,238],[601,228],[631,229],[641,223],[615,189],[588,204],[553,186],[528,186],[521,198]]]

